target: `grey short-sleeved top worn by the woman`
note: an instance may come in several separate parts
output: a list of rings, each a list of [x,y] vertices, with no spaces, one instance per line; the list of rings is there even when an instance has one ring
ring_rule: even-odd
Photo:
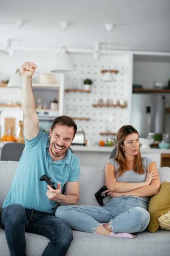
[[[111,163],[115,167],[115,176],[116,176],[116,180],[118,182],[140,183],[140,182],[145,181],[146,175],[147,175],[147,166],[151,162],[153,162],[153,160],[151,160],[150,158],[142,157],[142,164],[143,164],[143,168],[144,168],[144,174],[138,174],[138,173],[134,172],[133,170],[129,170],[129,171],[126,171],[120,177],[118,177],[118,175],[116,173],[117,170],[119,169],[119,164],[116,162],[116,160],[114,160],[114,158],[111,158],[110,160],[108,160],[107,163]],[[150,199],[150,197],[139,197],[139,196],[133,196],[133,195],[131,197],[137,197],[137,198],[142,199],[146,202],[148,202],[149,199]]]

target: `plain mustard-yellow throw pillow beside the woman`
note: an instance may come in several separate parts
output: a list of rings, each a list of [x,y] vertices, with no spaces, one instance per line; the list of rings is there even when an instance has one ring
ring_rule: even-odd
[[[170,210],[170,182],[164,181],[161,184],[159,193],[150,198],[148,212],[150,213],[150,222],[147,230],[151,233],[159,229],[158,218]]]

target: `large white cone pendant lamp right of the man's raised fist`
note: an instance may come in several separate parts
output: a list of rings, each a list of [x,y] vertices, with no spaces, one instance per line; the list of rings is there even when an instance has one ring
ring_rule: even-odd
[[[75,67],[73,61],[71,60],[71,56],[66,47],[62,47],[62,49],[57,54],[56,64],[52,73],[68,73],[75,71]]]

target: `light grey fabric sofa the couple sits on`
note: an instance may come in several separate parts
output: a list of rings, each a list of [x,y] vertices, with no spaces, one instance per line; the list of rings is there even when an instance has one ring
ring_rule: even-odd
[[[0,211],[18,162],[0,161]],[[24,172],[24,170],[23,170]],[[170,168],[159,169],[161,183],[170,182]],[[81,167],[80,197],[78,204],[99,206],[95,192],[105,184],[104,170],[99,168]],[[170,196],[170,195],[168,195]],[[108,201],[106,197],[104,203]],[[27,256],[41,256],[48,244],[48,239],[31,233],[26,233]],[[114,238],[96,234],[73,231],[73,241],[67,256],[169,256],[170,232],[158,230],[156,233],[144,231],[135,239]],[[0,228],[0,256],[10,256],[6,243],[5,231]]]

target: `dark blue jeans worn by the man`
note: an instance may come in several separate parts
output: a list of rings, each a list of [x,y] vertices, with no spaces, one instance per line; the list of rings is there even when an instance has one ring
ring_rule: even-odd
[[[4,208],[0,224],[5,230],[11,256],[26,256],[25,232],[50,240],[42,256],[64,256],[73,239],[71,227],[62,219],[50,213],[24,209],[20,204]]]

